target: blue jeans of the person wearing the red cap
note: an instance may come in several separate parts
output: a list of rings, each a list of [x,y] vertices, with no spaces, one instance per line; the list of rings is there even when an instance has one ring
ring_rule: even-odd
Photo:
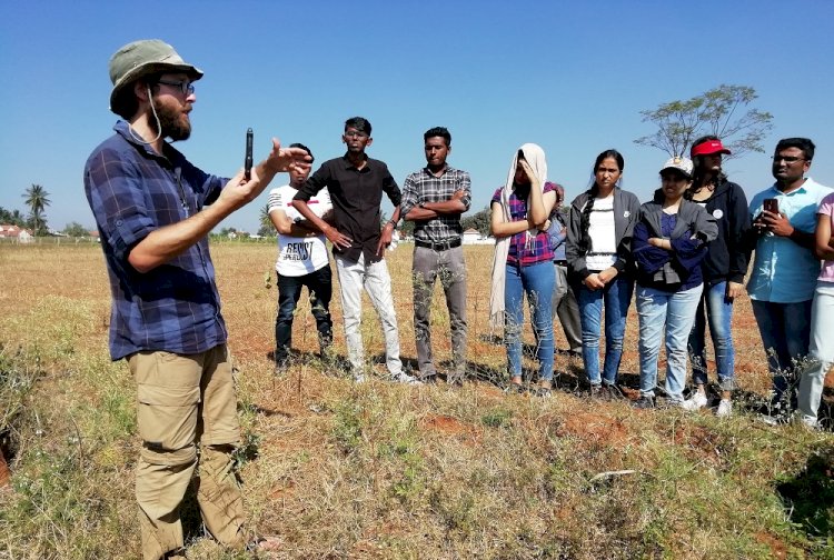
[[[706,317],[704,317],[706,316]],[[715,349],[715,369],[723,391],[732,391],[735,380],[735,347],[733,346],[733,300],[727,299],[727,282],[704,288],[695,311],[695,324],[689,333],[692,381],[706,384],[706,323]]]

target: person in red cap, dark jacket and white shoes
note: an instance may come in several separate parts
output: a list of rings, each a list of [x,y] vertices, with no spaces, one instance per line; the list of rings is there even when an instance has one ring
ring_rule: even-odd
[[[735,347],[733,344],[733,303],[744,290],[748,251],[745,239],[751,228],[744,190],[727,180],[722,156],[729,154],[718,137],[698,138],[692,144],[693,183],[686,198],[697,202],[718,224],[718,237],[707,244],[702,262],[704,293],[698,302],[695,324],[689,334],[693,356],[692,379],[695,392],[684,408],[695,410],[707,404],[706,324],[715,349],[715,368],[721,390],[716,413],[732,411],[731,391],[735,383]]]

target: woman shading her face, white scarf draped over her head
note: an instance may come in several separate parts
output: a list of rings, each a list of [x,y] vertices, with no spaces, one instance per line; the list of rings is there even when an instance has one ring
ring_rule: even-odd
[[[508,392],[522,391],[522,327],[524,294],[533,319],[538,359],[537,393],[550,394],[553,383],[553,316],[555,288],[553,249],[547,217],[556,201],[547,182],[547,162],[540,147],[526,143],[513,156],[504,187],[493,196],[490,228],[496,238],[489,317],[504,323]]]

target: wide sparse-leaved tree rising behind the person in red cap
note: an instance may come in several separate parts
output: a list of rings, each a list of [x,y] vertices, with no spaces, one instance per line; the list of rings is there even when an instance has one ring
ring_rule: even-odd
[[[751,87],[721,84],[686,101],[661,103],[641,111],[643,122],[655,124],[657,131],[634,142],[669,157],[688,157],[693,140],[715,134],[733,151],[731,158],[764,152],[762,140],[773,128],[773,116],[749,107],[757,97]]]

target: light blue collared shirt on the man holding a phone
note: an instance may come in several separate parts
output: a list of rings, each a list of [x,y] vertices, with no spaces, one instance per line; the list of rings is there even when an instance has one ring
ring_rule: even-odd
[[[753,220],[762,213],[764,200],[775,198],[780,212],[787,216],[791,226],[812,233],[816,228],[816,209],[832,189],[810,177],[798,189],[784,193],[773,184],[759,192],[749,203]],[[780,236],[765,233],[756,242],[755,259],[747,292],[751,299],[773,303],[798,303],[814,297],[820,261],[812,249]]]

